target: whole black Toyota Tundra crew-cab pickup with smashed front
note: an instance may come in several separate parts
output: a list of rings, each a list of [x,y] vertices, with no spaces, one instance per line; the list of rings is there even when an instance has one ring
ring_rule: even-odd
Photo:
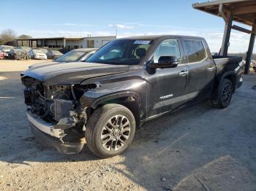
[[[28,69],[21,80],[39,141],[68,154],[87,144],[104,158],[124,152],[135,129],[162,114],[206,99],[225,108],[242,73],[241,57],[211,56],[203,38],[135,36],[83,62]]]

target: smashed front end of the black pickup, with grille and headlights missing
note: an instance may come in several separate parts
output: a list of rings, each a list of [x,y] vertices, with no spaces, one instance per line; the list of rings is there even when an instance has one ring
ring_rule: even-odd
[[[45,85],[28,76],[21,77],[24,90],[26,115],[31,130],[43,144],[55,147],[59,152],[80,152],[85,143],[83,127],[86,124],[86,108],[79,98],[90,85]]]

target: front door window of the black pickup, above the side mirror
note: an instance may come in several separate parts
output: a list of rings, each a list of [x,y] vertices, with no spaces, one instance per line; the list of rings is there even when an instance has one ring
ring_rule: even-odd
[[[158,63],[161,56],[176,56],[177,59],[181,58],[181,52],[178,47],[177,39],[164,40],[153,55],[154,63]]]

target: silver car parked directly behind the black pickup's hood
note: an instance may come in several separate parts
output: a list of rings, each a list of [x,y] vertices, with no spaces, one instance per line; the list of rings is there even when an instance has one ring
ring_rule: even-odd
[[[47,66],[54,63],[68,63],[75,61],[86,61],[91,55],[94,54],[98,49],[97,48],[79,48],[75,50],[71,50],[64,55],[61,55],[55,61],[50,61],[46,63],[35,63],[29,66],[29,69],[38,67],[38,66]]]

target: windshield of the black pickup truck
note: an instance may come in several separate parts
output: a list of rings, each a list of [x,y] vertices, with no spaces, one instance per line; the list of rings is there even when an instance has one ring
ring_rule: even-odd
[[[86,62],[135,65],[140,63],[151,44],[150,40],[115,40],[91,55]]]

